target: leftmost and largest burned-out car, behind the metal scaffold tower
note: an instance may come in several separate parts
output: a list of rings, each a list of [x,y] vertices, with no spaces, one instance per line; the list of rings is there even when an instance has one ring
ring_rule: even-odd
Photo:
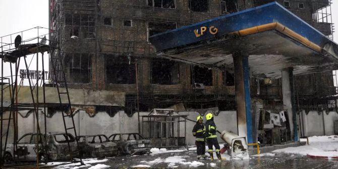
[[[47,146],[45,146],[45,136]],[[71,151],[68,148],[67,137]],[[39,159],[47,157],[50,160],[70,159],[71,154],[73,157],[78,156],[75,138],[70,133],[52,132],[47,135],[39,134],[39,136],[36,133],[28,133],[17,141],[17,147],[15,152],[17,160],[36,160],[37,154],[39,154]],[[4,153],[5,162],[11,162],[13,156],[14,144],[8,144]]]

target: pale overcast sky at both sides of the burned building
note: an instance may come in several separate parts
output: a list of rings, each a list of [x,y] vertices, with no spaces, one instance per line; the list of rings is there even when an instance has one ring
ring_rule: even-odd
[[[338,42],[338,0],[333,0],[332,2],[332,23],[337,28],[337,32],[333,34],[333,39],[335,42]],[[36,26],[48,28],[48,0],[0,0],[0,37]],[[26,38],[24,37],[24,39]],[[35,57],[27,57],[27,59],[29,60],[28,62],[33,59],[30,69],[36,70],[36,65],[34,64],[34,61],[36,61]],[[7,72],[4,71],[4,76],[10,75],[8,71],[9,66],[8,64],[6,65],[7,67],[4,66],[4,69]],[[20,69],[25,69],[23,64],[20,65]],[[45,66],[48,67],[47,62],[45,62]],[[39,70],[42,70],[42,67]],[[45,70],[48,69],[45,68]]]

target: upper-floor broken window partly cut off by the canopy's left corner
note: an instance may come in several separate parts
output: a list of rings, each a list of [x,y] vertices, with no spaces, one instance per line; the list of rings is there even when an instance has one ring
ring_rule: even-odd
[[[148,22],[148,38],[154,34],[177,28],[177,23]]]

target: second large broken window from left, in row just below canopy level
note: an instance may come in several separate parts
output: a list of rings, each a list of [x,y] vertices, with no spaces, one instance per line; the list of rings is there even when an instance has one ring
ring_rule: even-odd
[[[125,56],[106,55],[105,81],[109,84],[134,84],[135,60]]]

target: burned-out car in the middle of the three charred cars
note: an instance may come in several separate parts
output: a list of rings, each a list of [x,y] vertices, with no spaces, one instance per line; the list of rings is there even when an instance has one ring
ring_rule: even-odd
[[[78,136],[81,157],[105,157],[118,154],[118,146],[103,134]]]

